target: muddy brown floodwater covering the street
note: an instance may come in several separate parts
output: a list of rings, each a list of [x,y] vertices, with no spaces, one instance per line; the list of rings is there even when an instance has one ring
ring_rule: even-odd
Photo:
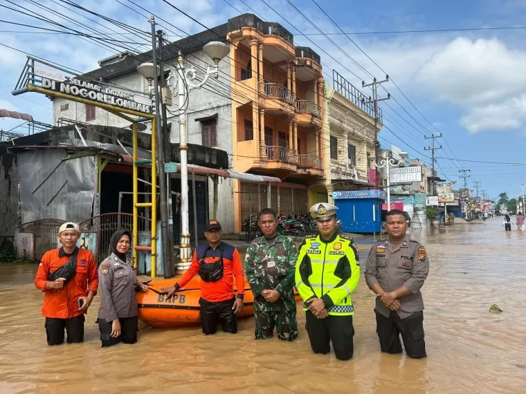
[[[36,265],[0,265],[0,393],[526,393],[526,234],[501,223],[412,232],[430,256],[428,357],[420,360],[380,353],[363,275],[353,296],[354,357],[340,362],[311,353],[301,310],[290,344],[255,341],[253,319],[242,319],[237,335],[212,337],[199,326],[140,323],[138,344],[102,349],[98,297],[84,344],[50,347]],[[489,312],[493,303],[502,314]]]

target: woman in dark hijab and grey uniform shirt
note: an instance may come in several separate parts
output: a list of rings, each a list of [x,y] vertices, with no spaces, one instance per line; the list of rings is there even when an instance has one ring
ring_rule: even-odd
[[[148,286],[137,279],[131,257],[127,255],[130,245],[129,232],[115,232],[110,241],[111,254],[99,266],[100,308],[97,323],[103,348],[121,341],[125,344],[137,341],[135,289],[138,287],[145,292]]]

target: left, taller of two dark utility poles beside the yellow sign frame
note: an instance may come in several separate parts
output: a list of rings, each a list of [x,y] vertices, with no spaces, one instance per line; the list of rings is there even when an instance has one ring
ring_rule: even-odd
[[[155,33],[155,18],[152,15],[149,18],[149,23],[152,25],[152,57],[154,58],[154,97],[155,97],[155,116],[156,116],[156,143],[157,143],[157,160],[158,160],[158,177],[159,177],[159,202],[161,205],[161,236],[163,237],[163,267],[165,278],[170,278],[170,238],[168,236],[168,205],[166,203],[166,176],[165,176],[165,147],[163,140],[163,133],[161,131],[161,113],[159,111],[159,81],[157,75],[157,43]],[[155,158],[152,158],[155,160]],[[152,173],[152,176],[157,176],[156,173]],[[152,201],[152,204],[156,204],[156,201]],[[156,226],[157,223],[152,223]],[[152,240],[156,242],[156,240]]]

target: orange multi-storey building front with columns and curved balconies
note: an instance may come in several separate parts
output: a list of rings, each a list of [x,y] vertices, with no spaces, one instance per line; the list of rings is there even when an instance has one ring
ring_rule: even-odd
[[[247,18],[254,23],[247,24]],[[309,187],[325,178],[320,57],[311,48],[293,46],[293,36],[279,24],[253,15],[243,21],[248,26],[226,36],[233,170],[282,182],[264,187],[235,181],[236,232],[244,218],[267,205],[282,214],[307,212]]]

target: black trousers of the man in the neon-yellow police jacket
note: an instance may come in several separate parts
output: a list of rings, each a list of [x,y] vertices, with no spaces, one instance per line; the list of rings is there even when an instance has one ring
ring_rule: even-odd
[[[329,343],[332,342],[337,359],[348,360],[352,358],[354,351],[352,316],[329,315],[325,319],[318,319],[310,310],[307,310],[305,317],[307,318],[305,328],[307,328],[314,353],[323,355],[330,353]]]

